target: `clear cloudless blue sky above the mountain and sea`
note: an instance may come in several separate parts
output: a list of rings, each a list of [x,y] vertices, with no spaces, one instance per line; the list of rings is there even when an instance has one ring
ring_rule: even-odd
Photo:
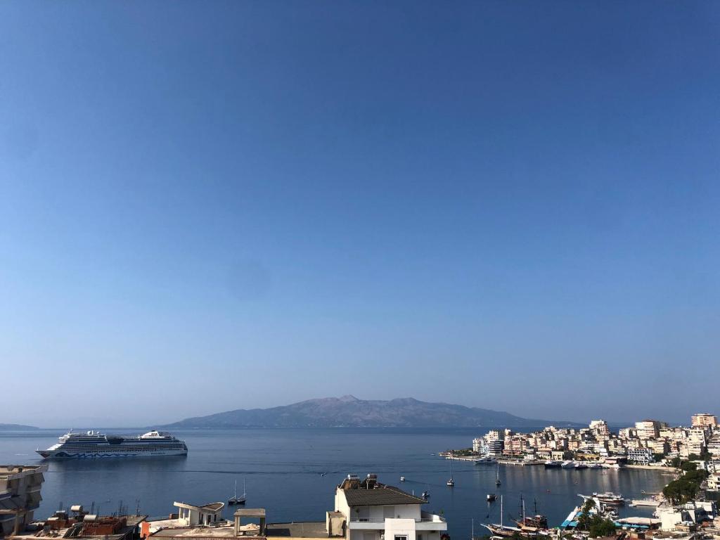
[[[0,422],[718,408],[720,3],[0,3]]]

